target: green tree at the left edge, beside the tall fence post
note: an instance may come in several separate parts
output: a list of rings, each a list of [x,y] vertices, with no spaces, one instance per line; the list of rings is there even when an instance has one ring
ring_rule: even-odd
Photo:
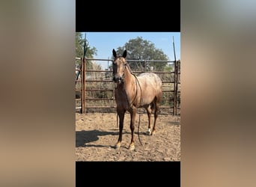
[[[85,43],[85,35],[81,32],[76,32],[76,57],[82,58],[84,56],[84,46],[87,48],[85,57],[94,58],[94,55],[97,55],[97,49],[89,46],[88,40]],[[93,67],[92,62],[86,61],[86,67],[91,69]]]

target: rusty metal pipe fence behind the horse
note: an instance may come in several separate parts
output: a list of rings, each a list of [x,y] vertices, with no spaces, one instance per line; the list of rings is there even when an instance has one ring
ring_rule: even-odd
[[[115,85],[112,82],[112,70],[88,70],[86,62],[110,61],[110,59],[76,58],[76,111],[81,113],[90,111],[115,112]],[[127,60],[138,62],[138,60]],[[162,103],[159,114],[180,114],[180,61],[141,61],[144,70],[132,70],[138,75],[149,71],[147,62],[173,64],[174,71],[156,71],[162,79]],[[79,76],[77,76],[79,73]],[[139,111],[138,111],[139,112]]]

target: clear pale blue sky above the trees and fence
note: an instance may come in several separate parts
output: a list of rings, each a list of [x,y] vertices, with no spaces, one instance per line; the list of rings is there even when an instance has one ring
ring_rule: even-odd
[[[156,49],[162,49],[169,61],[174,61],[175,47],[176,59],[180,59],[180,32],[86,32],[82,34],[83,36],[86,34],[89,46],[97,49],[97,55],[94,58],[111,59],[112,49],[117,50],[129,40],[142,37],[142,40],[153,43]],[[103,70],[108,66],[107,61],[97,61],[97,64],[100,64]]]

